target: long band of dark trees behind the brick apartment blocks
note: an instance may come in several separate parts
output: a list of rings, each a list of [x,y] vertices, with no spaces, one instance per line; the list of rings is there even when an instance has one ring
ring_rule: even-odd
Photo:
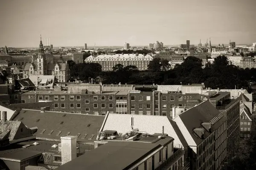
[[[196,57],[187,57],[180,65],[170,69],[171,65],[166,59],[154,58],[148,65],[147,71],[138,71],[134,65],[124,67],[115,65],[113,71],[101,70],[98,63],[75,64],[70,63],[70,73],[73,77],[87,80],[88,77],[100,76],[104,84],[162,84],[183,85],[202,83],[211,88],[247,88],[248,82],[256,82],[256,69],[238,68],[228,65],[227,57],[216,57],[212,64],[207,63],[202,68],[202,60]]]

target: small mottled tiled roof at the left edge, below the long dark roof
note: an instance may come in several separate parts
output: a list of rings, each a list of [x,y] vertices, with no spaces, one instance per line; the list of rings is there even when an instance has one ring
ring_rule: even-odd
[[[0,122],[0,138],[6,136],[6,131],[9,131],[9,140],[12,141],[17,133],[18,128],[20,127],[20,121],[9,121]],[[3,135],[3,136],[2,136]]]

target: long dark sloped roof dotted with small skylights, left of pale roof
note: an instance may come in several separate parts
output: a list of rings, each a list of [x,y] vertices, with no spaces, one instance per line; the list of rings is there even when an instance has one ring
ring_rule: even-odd
[[[77,141],[93,142],[96,140],[98,129],[102,126],[104,118],[105,116],[52,111],[41,113],[41,111],[22,109],[14,120],[22,121],[27,127],[38,127],[37,132],[34,133],[36,137],[60,140],[61,136],[70,132],[69,135],[73,136],[81,133]],[[44,133],[42,133],[43,130],[45,130]],[[52,130],[54,131],[49,135]],[[85,134],[87,136],[81,139]],[[94,137],[89,140],[91,135]]]

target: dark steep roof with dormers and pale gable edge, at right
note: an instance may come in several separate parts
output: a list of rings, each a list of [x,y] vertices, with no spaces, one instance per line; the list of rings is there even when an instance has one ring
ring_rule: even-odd
[[[181,120],[181,122],[177,122],[177,120]],[[199,138],[195,135],[194,129],[198,127],[202,127],[201,124],[204,122],[211,122],[215,119],[217,122],[215,122],[213,125],[211,125],[212,131],[217,129],[220,125],[222,125],[227,118],[224,117],[218,109],[215,108],[214,105],[212,105],[209,100],[206,100],[199,105],[195,105],[193,108],[190,108],[189,110],[181,113],[175,119],[173,119],[175,122],[177,122],[178,127],[180,128],[181,132],[183,133],[183,130],[186,129],[189,134],[184,134],[186,141],[189,145],[192,144],[194,141],[196,144],[200,144],[203,139]],[[207,137],[209,133],[205,130],[204,131],[204,137]],[[192,139],[191,139],[191,137]]]

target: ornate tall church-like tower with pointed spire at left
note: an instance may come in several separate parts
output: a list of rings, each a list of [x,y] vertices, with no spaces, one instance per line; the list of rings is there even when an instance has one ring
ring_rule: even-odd
[[[42,37],[40,34],[40,45],[37,58],[37,75],[46,75],[47,74],[47,65],[44,57],[44,46],[42,43]]]

